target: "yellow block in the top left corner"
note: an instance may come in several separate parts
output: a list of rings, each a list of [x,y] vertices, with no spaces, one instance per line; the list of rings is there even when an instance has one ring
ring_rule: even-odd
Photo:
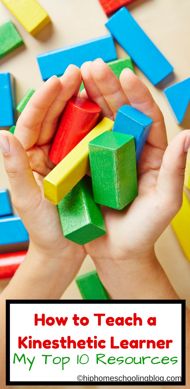
[[[2,0],[9,11],[31,35],[36,35],[50,18],[36,0]]]

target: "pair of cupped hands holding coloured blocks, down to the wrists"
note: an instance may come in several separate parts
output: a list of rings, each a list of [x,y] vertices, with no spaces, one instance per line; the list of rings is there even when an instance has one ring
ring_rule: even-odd
[[[138,196],[121,211],[103,207],[107,233],[84,246],[64,238],[57,207],[43,195],[43,179],[54,168],[49,151],[59,116],[71,96],[78,95],[82,79],[85,89],[80,96],[101,107],[101,118],[114,120],[117,110],[130,104],[153,119],[137,166]],[[12,202],[30,235],[29,250],[49,260],[75,258],[69,282],[89,254],[104,284],[104,261],[114,268],[127,259],[151,256],[156,240],[181,207],[189,143],[190,131],[185,130],[167,147],[163,115],[148,88],[129,69],[122,71],[119,80],[98,59],[85,62],[81,69],[70,65],[60,79],[51,77],[31,97],[14,135],[0,131]]]

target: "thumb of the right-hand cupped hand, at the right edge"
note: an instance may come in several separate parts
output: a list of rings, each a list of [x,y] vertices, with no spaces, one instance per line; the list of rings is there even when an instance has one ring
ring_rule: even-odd
[[[190,130],[181,131],[169,142],[157,179],[156,191],[168,205],[168,211],[173,210],[173,217],[183,202],[185,165],[189,147]]]

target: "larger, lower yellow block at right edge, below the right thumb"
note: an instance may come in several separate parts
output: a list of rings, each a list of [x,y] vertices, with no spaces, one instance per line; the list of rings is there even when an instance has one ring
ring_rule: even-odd
[[[183,205],[178,214],[171,221],[174,233],[184,251],[188,261],[190,261],[190,202],[183,191]]]

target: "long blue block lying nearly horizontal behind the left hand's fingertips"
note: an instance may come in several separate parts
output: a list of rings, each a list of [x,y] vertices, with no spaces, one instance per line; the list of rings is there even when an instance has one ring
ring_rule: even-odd
[[[105,62],[117,59],[110,34],[37,55],[43,80],[54,74],[62,75],[71,63],[81,67],[85,61],[94,61],[96,58],[102,58]]]

